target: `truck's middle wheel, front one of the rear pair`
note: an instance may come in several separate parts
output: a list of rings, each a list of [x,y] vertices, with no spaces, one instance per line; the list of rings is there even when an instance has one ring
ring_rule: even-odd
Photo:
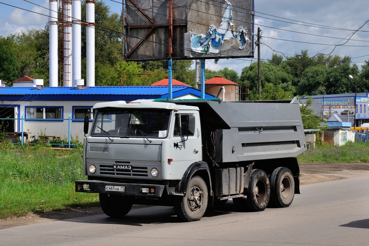
[[[261,169],[251,171],[246,199],[233,198],[233,204],[239,211],[259,212],[268,207],[270,200],[270,183],[268,175]]]

